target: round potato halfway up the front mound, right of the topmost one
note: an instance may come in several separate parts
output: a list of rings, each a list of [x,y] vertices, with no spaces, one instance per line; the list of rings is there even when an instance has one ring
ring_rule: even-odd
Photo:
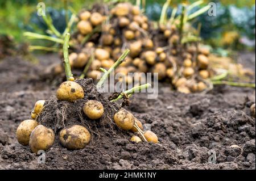
[[[104,113],[104,107],[97,100],[88,100],[84,104],[83,111],[90,119],[100,119]]]

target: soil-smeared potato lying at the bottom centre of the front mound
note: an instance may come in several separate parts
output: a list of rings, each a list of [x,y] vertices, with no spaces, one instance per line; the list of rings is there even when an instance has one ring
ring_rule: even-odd
[[[73,125],[64,128],[60,132],[60,143],[65,148],[76,150],[84,148],[90,142],[90,133],[88,129],[81,125]]]

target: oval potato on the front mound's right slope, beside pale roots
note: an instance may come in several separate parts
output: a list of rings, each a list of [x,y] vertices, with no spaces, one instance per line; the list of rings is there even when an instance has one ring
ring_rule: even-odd
[[[126,111],[125,109],[121,109],[117,113],[115,113],[114,122],[119,128],[128,131],[133,128],[135,119],[130,112]]]

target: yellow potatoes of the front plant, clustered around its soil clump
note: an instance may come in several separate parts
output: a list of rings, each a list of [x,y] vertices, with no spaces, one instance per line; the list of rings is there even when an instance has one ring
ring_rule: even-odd
[[[65,81],[61,83],[56,91],[56,98],[59,102],[69,102],[75,104],[77,100],[84,99],[85,92],[79,83]],[[16,130],[16,138],[18,142],[24,146],[29,145],[34,153],[39,150],[47,150],[51,148],[55,142],[56,134],[59,134],[61,145],[70,150],[82,149],[91,140],[90,132],[82,125],[72,125],[64,127],[61,131],[54,132],[51,128],[38,123],[37,117],[44,112],[46,100],[39,100],[35,103],[32,119],[24,120],[20,123]],[[99,120],[104,116],[104,106],[98,100],[85,100],[82,102],[82,111],[90,120]],[[80,104],[81,105],[81,104]],[[35,115],[36,116],[35,116]],[[158,142],[154,133],[142,132],[143,126],[141,121],[135,118],[130,112],[121,109],[115,113],[113,117],[114,123],[121,129],[132,132],[139,132],[139,135],[146,138],[149,142]],[[144,135],[143,135],[143,134]],[[153,137],[153,138],[152,138]],[[131,141],[140,142],[140,137],[135,137]]]

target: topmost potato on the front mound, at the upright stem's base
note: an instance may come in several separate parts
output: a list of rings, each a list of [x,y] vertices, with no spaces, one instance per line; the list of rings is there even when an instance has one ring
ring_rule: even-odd
[[[76,82],[65,81],[61,83],[56,96],[59,100],[68,100],[69,102],[73,102],[77,99],[84,98],[84,89],[82,89],[82,87]]]

